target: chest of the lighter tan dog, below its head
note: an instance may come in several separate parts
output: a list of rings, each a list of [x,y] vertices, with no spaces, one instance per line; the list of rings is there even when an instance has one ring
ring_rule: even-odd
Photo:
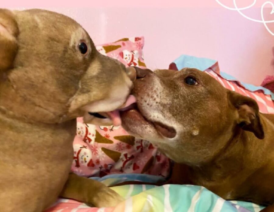
[[[8,211],[49,207],[68,178],[75,120],[36,127],[0,115],[0,126],[0,205]]]

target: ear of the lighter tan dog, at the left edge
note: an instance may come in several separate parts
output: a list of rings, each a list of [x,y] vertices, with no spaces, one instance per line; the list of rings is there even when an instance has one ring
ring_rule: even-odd
[[[12,67],[18,45],[18,26],[13,13],[0,9],[0,74]]]

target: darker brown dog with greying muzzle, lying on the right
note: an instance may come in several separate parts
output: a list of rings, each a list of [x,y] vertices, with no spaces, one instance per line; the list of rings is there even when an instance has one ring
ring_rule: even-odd
[[[167,183],[274,203],[274,115],[196,69],[136,70],[137,108],[121,114],[122,126],[176,162]]]

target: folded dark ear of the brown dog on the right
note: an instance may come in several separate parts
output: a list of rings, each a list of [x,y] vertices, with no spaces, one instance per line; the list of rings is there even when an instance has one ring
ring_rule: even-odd
[[[242,129],[253,132],[254,135],[263,139],[265,133],[259,117],[259,106],[254,99],[243,96],[233,91],[228,92],[228,99],[236,107],[238,112],[237,123]]]

